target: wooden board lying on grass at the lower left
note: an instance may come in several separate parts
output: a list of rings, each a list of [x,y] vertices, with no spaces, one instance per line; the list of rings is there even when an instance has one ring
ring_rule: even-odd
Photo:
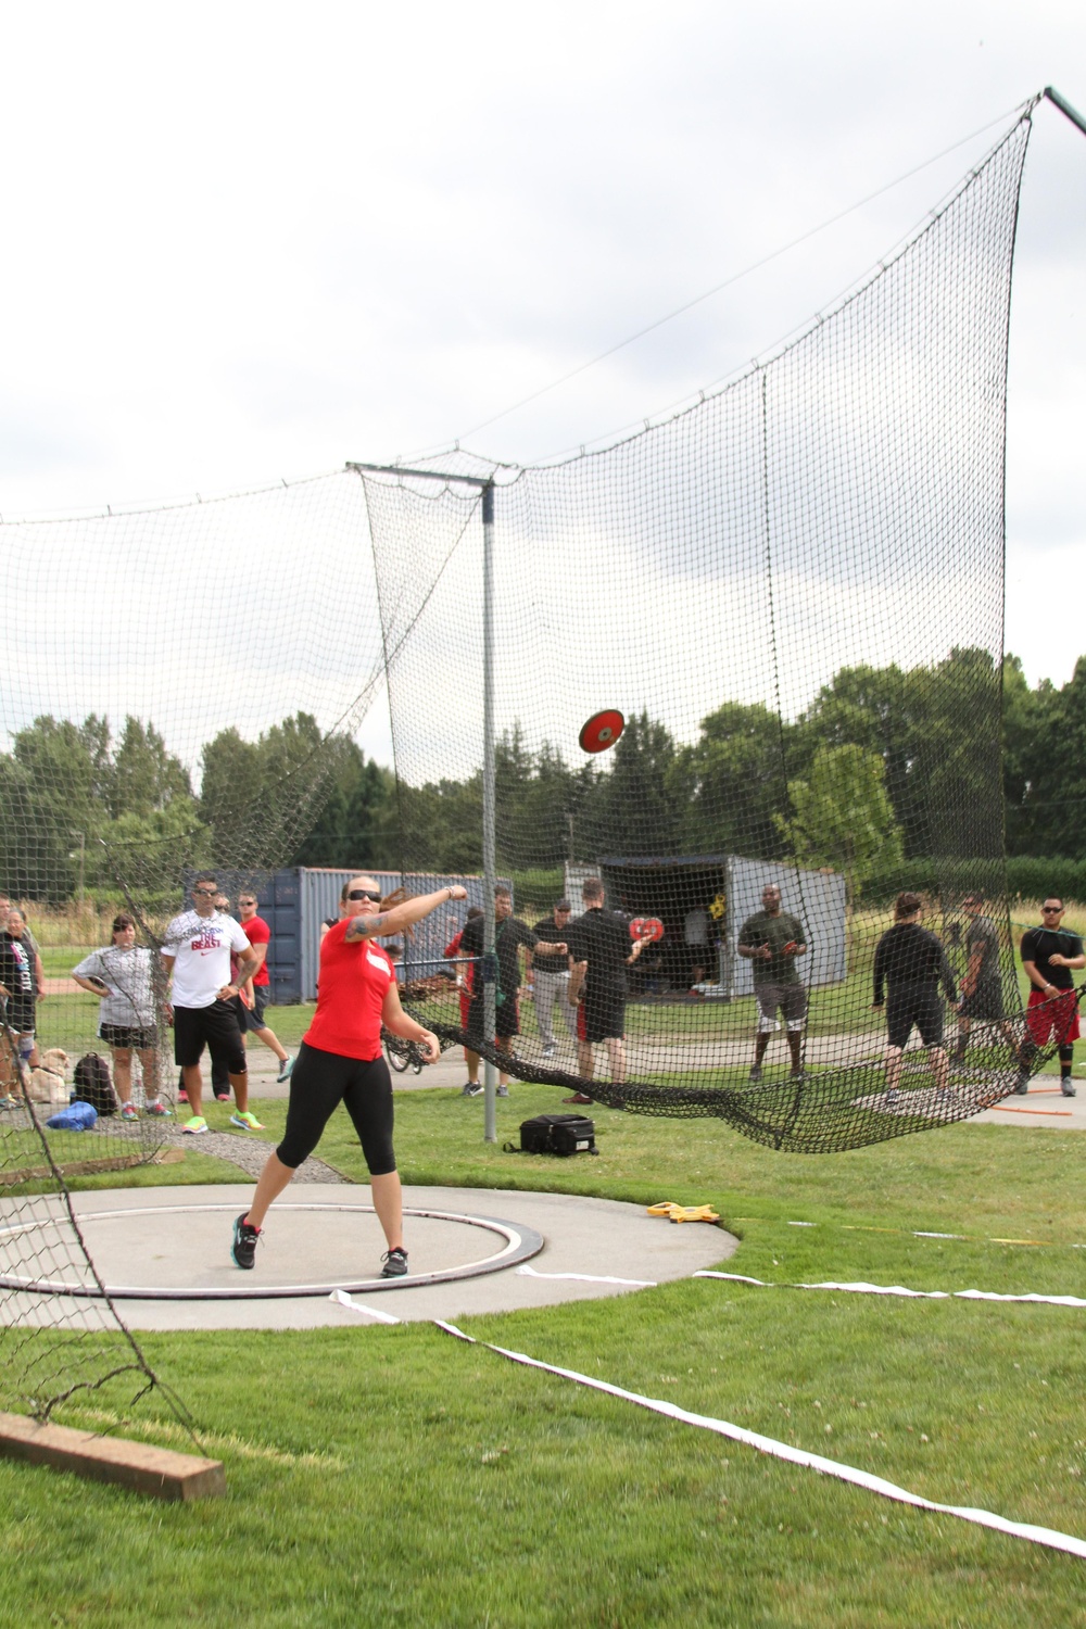
[[[75,1471],[93,1482],[117,1482],[151,1499],[190,1500],[226,1492],[221,1460],[68,1425],[41,1425],[24,1414],[0,1414],[0,1455]]]

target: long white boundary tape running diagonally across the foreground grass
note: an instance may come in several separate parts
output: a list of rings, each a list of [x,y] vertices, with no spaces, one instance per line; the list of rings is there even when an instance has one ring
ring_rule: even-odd
[[[523,1363],[526,1368],[541,1368],[547,1375],[558,1375],[560,1380],[573,1380],[578,1386],[589,1386],[593,1391],[604,1391],[607,1396],[619,1398],[624,1403],[635,1403],[642,1409],[663,1414],[666,1419],[679,1420],[682,1425],[697,1425],[702,1430],[712,1430],[718,1437],[728,1437],[731,1442],[741,1442],[747,1448],[757,1448],[759,1453],[767,1453],[775,1460],[786,1460],[790,1464],[806,1466],[806,1469],[819,1471],[822,1476],[834,1476],[839,1482],[852,1482],[855,1487],[879,1494],[882,1499],[894,1499],[902,1505],[915,1505],[917,1510],[935,1510],[944,1517],[959,1517],[962,1521],[972,1521],[975,1526],[993,1528],[996,1533],[1006,1533],[1009,1538],[1024,1538],[1031,1544],[1045,1544],[1049,1549],[1063,1549],[1070,1556],[1086,1559],[1086,1539],[1073,1538],[1070,1533],[1032,1526],[1029,1521],[1008,1521],[990,1510],[974,1510],[970,1505],[941,1505],[935,1499],[922,1499],[920,1494],[910,1494],[905,1487],[896,1487],[894,1482],[887,1482],[881,1476],[858,1471],[852,1464],[840,1464],[837,1460],[825,1460],[821,1453],[806,1453],[803,1448],[793,1448],[785,1442],[777,1442],[773,1437],[762,1437],[759,1432],[744,1430],[729,1420],[716,1420],[708,1414],[690,1414],[676,1403],[663,1403],[659,1398],[643,1398],[637,1391],[625,1391],[622,1386],[612,1386],[606,1380],[593,1380],[591,1375],[580,1375],[575,1368],[541,1363],[539,1359],[526,1357],[523,1352],[508,1352],[503,1346],[475,1341],[474,1336],[464,1334],[456,1324],[444,1323],[441,1318],[435,1318],[435,1324],[446,1334],[456,1336],[458,1341],[467,1341],[471,1346],[485,1346],[487,1350],[497,1352],[498,1357],[508,1357],[513,1363]]]

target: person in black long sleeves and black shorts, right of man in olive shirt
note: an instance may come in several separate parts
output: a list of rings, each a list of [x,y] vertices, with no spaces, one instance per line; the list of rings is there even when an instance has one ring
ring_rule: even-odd
[[[873,1008],[882,1008],[886,997],[886,1096],[892,1103],[902,1069],[902,1052],[913,1025],[928,1047],[931,1074],[936,1087],[944,1091],[949,1075],[949,1059],[943,1047],[943,1002],[939,984],[948,1002],[957,1000],[954,974],[946,951],[926,927],[920,927],[923,901],[920,894],[902,893],[894,902],[894,927],[887,929],[874,946],[874,1000]]]

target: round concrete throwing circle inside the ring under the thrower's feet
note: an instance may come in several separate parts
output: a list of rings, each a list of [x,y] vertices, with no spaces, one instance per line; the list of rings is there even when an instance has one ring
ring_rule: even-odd
[[[80,1196],[83,1197],[83,1196]],[[0,1225],[0,1262],[11,1262],[10,1246],[26,1246],[34,1236],[41,1261],[63,1262],[60,1276],[39,1276],[29,1262],[0,1271],[0,1285],[37,1295],[75,1295],[112,1300],[238,1302],[282,1297],[331,1295],[334,1290],[409,1290],[501,1272],[529,1261],[544,1248],[544,1236],[521,1222],[503,1222],[456,1210],[404,1205],[412,1220],[412,1262],[425,1271],[381,1279],[379,1269],[360,1274],[358,1262],[379,1262],[384,1236],[371,1204],[358,1201],[280,1199],[264,1227],[267,1243],[257,1249],[252,1272],[239,1274],[230,1258],[230,1236],[238,1202],[190,1201],[158,1205],[125,1205],[112,1210],[81,1209],[80,1232],[86,1240],[101,1287],[90,1274],[73,1272],[72,1227],[65,1214]],[[321,1227],[306,1227],[314,1215]],[[166,1220],[168,1218],[168,1220]],[[166,1222],[166,1228],[163,1228]],[[321,1277],[314,1279],[314,1261]]]

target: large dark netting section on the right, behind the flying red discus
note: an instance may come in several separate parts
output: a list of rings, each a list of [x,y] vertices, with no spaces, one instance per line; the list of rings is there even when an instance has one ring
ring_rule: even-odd
[[[474,973],[498,984],[513,1052],[480,1047],[448,986],[420,986],[415,1016],[444,1041],[614,1108],[718,1116],[808,1153],[964,1119],[1011,1088],[1024,1031],[1000,784],[1005,381],[1029,129],[1027,109],[866,282],[668,422],[549,468],[466,453],[423,464],[461,479],[358,466],[409,886],[440,868],[451,828],[480,862],[490,481],[497,872],[529,925],[560,898],[576,919],[593,876],[635,933],[663,929],[625,973],[624,1030],[593,1013],[612,1002],[588,964],[585,1034],[624,1033],[625,1056],[578,1043],[552,982],[518,999],[524,974],[500,945]],[[625,731],[583,753],[581,725],[606,709]],[[910,1046],[887,1090],[873,958],[892,881],[920,860],[926,925],[959,981],[975,943],[961,904],[983,898],[1000,990],[961,1039],[948,1018],[949,1067],[946,1049]],[[791,963],[759,915],[767,885],[806,945]],[[767,963],[741,951],[762,945]],[[752,1070],[755,1025],[772,1039]]]

